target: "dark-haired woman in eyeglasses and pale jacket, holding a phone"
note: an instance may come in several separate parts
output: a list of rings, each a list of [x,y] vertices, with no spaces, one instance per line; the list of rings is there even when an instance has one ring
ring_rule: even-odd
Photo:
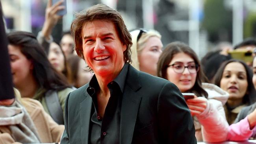
[[[182,93],[193,93],[186,99],[193,116],[197,141],[225,141],[228,133],[224,103],[228,93],[207,81],[195,52],[182,42],[168,44],[160,55],[159,77],[174,83]],[[186,95],[186,94],[184,94]]]

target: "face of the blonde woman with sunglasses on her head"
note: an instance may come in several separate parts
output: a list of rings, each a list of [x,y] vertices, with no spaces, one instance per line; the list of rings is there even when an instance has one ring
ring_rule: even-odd
[[[162,48],[163,44],[160,38],[150,37],[145,44],[145,48],[138,55],[139,70],[156,76],[157,62],[162,53]]]

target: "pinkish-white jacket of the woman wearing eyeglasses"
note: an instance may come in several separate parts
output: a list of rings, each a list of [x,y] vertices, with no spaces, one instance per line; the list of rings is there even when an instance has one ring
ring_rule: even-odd
[[[228,100],[228,92],[217,85],[202,83],[202,87],[208,93],[207,107],[197,116],[201,124],[201,135],[204,142],[222,142],[228,135],[228,122],[226,121],[223,105]],[[200,131],[196,132],[200,139]]]

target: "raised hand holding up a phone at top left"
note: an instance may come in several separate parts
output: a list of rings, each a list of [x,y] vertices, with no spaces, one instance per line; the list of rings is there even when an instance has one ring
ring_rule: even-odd
[[[42,34],[46,39],[50,39],[52,28],[57,24],[58,20],[63,17],[57,14],[59,10],[65,8],[65,6],[61,6],[62,3],[63,0],[60,0],[52,5],[52,0],[48,0],[45,9],[45,22],[42,28]]]

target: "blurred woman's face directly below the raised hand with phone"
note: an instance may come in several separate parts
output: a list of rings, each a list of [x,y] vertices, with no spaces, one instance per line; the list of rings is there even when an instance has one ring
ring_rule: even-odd
[[[61,48],[55,42],[50,44],[50,50],[48,54],[48,60],[52,64],[52,66],[58,71],[62,72],[65,68],[65,59],[64,55],[61,52]]]

